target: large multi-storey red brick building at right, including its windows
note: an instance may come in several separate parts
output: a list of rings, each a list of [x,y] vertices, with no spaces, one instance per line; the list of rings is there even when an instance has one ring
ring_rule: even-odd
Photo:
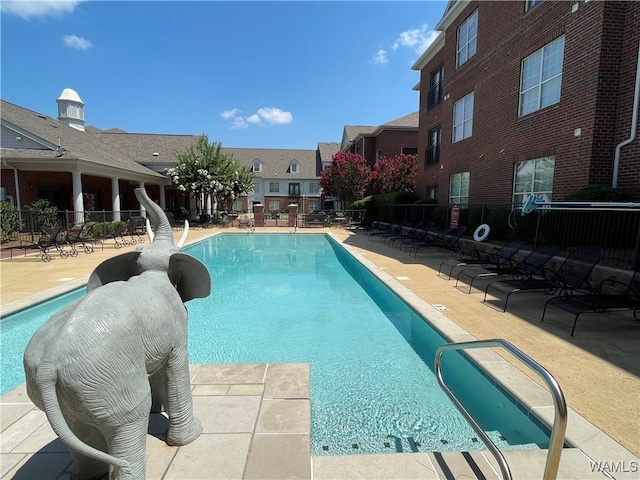
[[[457,0],[436,29],[412,67],[419,195],[519,204],[598,184],[640,198],[640,2]]]

